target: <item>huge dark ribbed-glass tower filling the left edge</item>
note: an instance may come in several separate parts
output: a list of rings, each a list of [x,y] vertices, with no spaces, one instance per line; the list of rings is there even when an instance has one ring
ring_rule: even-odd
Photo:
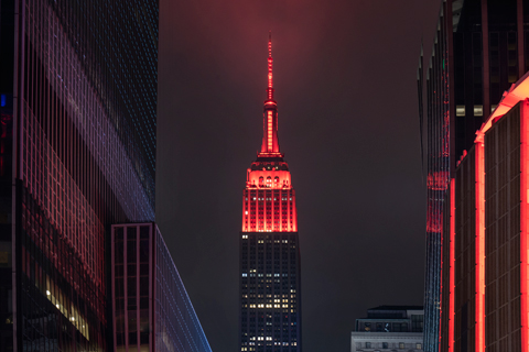
[[[107,350],[110,226],[154,220],[158,1],[0,7],[0,350]]]

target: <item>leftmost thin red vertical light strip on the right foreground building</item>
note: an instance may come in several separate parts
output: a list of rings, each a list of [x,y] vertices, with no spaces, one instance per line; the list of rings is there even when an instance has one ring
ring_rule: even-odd
[[[454,351],[455,319],[455,179],[450,182],[449,352]]]

